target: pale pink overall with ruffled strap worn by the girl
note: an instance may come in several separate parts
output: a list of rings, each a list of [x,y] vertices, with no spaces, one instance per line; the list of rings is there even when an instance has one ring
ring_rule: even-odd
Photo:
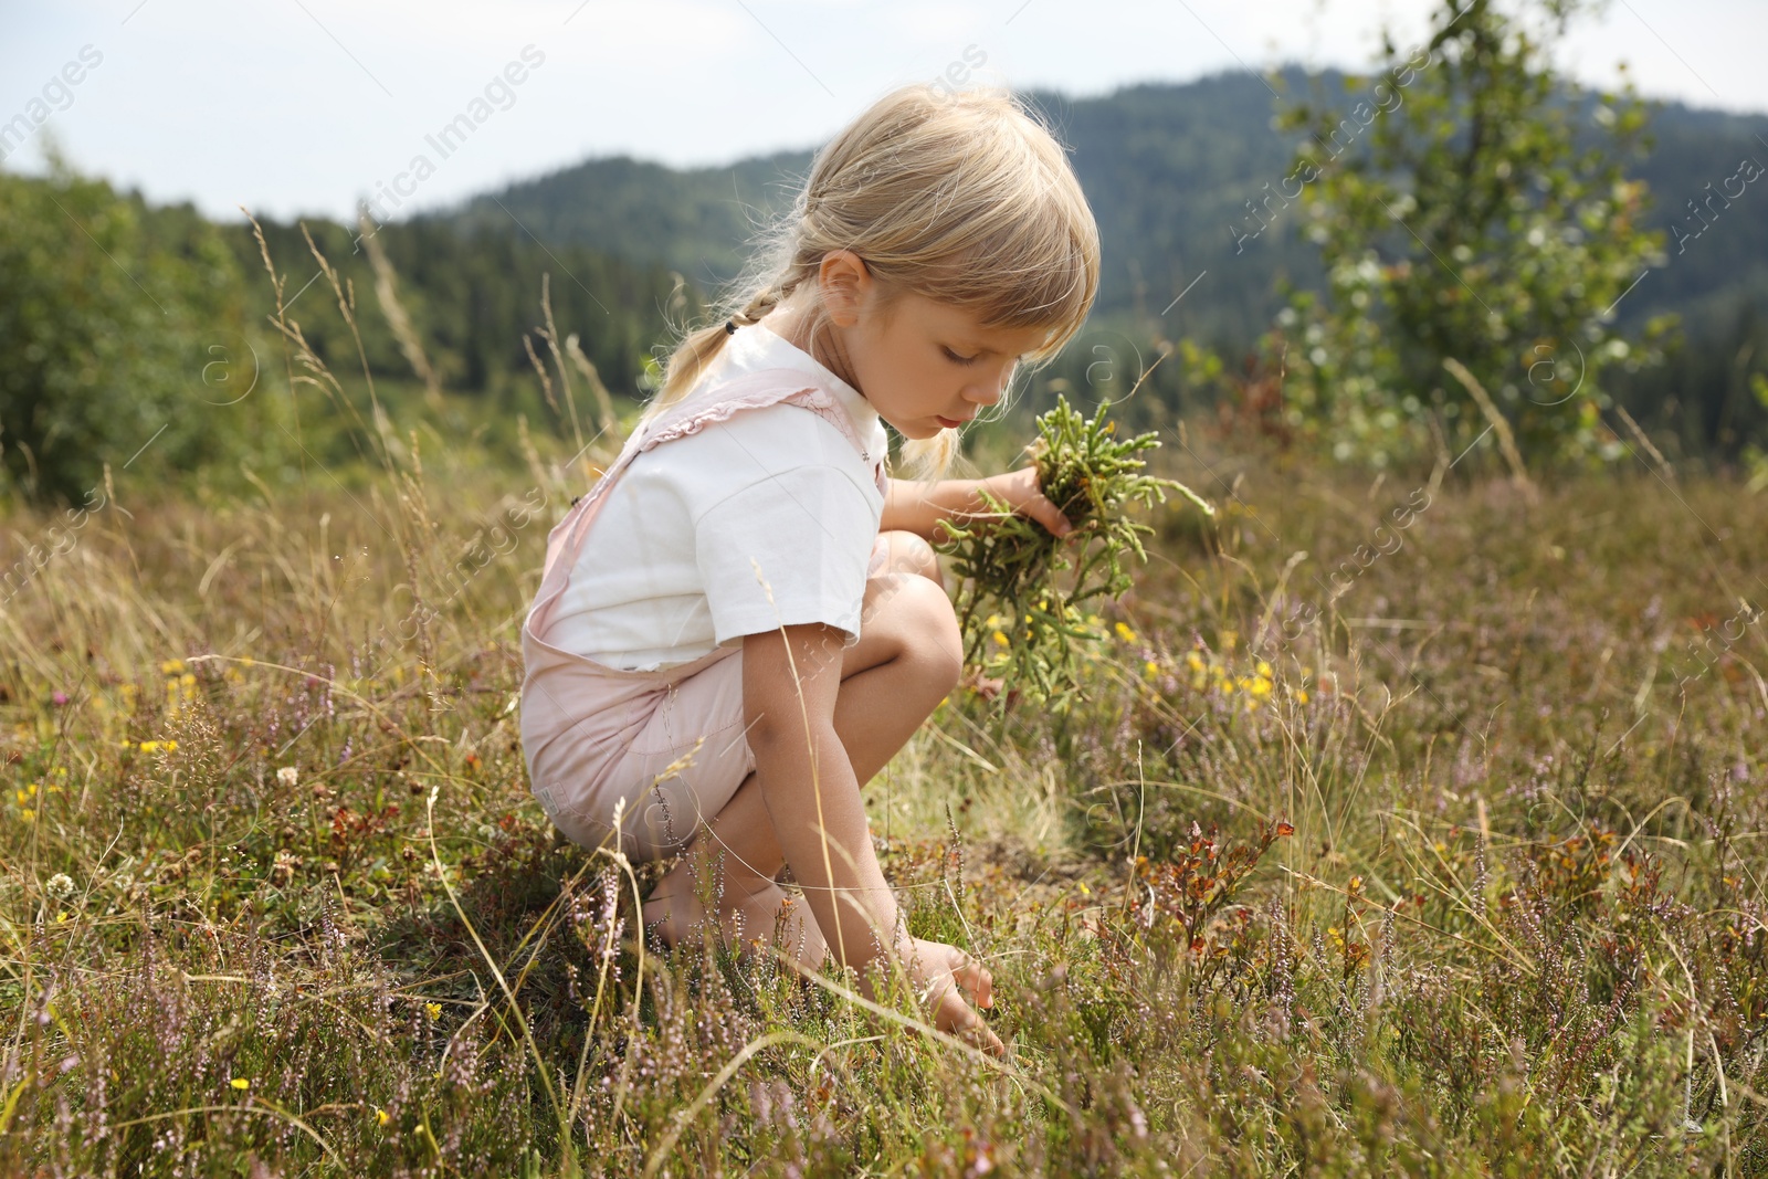
[[[628,672],[546,642],[553,605],[583,551],[608,488],[654,445],[743,410],[789,401],[834,424],[870,456],[834,394],[799,369],[764,369],[697,389],[626,440],[621,456],[546,536],[546,571],[522,626],[522,748],[546,815],[585,848],[608,843],[621,806],[621,850],[633,859],[679,854],[755,769],[743,712],[741,643],[691,663]],[[873,567],[879,546],[873,543]],[[610,553],[610,559],[617,555]]]

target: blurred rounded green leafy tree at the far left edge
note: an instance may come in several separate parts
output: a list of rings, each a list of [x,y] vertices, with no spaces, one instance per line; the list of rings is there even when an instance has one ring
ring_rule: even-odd
[[[256,361],[226,244],[189,207],[149,210],[53,147],[50,163],[0,175],[0,490],[80,502],[106,465],[233,453]]]

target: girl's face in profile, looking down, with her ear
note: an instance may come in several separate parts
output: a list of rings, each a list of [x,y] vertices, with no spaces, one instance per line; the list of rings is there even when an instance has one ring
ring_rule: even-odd
[[[1041,327],[983,327],[925,295],[905,293],[884,309],[852,251],[831,253],[819,276],[834,355],[817,359],[905,438],[932,438],[1001,401],[1018,361],[1048,339]]]

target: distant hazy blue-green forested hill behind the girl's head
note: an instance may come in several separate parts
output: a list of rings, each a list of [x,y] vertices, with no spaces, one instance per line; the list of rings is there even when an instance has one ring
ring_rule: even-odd
[[[1299,285],[1319,276],[1312,246],[1280,210],[1268,232],[1236,244],[1246,202],[1275,191],[1289,173],[1292,133],[1273,129],[1280,92],[1315,92],[1349,110],[1342,74],[1310,83],[1299,69],[1273,85],[1246,71],[1186,85],[1137,85],[1110,95],[1070,99],[1027,92],[1071,148],[1075,171],[1100,223],[1103,318],[1151,322],[1188,283],[1197,288],[1167,313],[1167,332],[1243,343],[1269,322],[1273,279]],[[1664,104],[1651,120],[1655,147],[1630,166],[1653,193],[1653,224],[1690,223],[1688,200],[1717,189],[1745,156],[1768,163],[1768,117]],[[583,244],[633,262],[659,262],[704,286],[730,278],[748,233],[781,209],[810,168],[812,152],[780,152],[716,168],[674,170],[628,156],[591,159],[525,180],[461,209],[437,214],[456,224],[507,224],[514,214],[550,244]],[[1768,202],[1750,191],[1726,210],[1720,240],[1669,239],[1664,274],[1653,274],[1623,313],[1642,318],[1680,309],[1708,325],[1734,318],[1754,292],[1768,308]],[[507,207],[507,212],[499,205]],[[1236,226],[1236,228],[1231,228]],[[1236,247],[1239,246],[1239,247]],[[1208,274],[1206,274],[1208,272]],[[1140,315],[1137,315],[1140,311]],[[1694,323],[1690,323],[1694,329]]]

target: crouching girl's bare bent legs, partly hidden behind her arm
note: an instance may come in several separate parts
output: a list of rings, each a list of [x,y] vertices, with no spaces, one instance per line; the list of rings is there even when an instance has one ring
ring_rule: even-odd
[[[939,583],[932,546],[907,532],[882,534],[888,543],[884,573],[866,580],[859,642],[842,652],[842,688],[834,704],[834,732],[847,749],[854,778],[865,787],[909,741],[962,670],[958,624],[951,599]],[[774,838],[755,774],[744,778],[688,856],[658,882],[645,901],[645,921],[656,921],[665,942],[690,935],[704,917],[693,896],[714,857],[723,854],[720,917],[727,932],[741,919],[743,939],[771,937],[774,914],[787,900],[774,877],[785,854]],[[667,914],[667,919],[665,919]],[[787,917],[787,947],[806,965],[822,962],[824,940],[804,905]]]

